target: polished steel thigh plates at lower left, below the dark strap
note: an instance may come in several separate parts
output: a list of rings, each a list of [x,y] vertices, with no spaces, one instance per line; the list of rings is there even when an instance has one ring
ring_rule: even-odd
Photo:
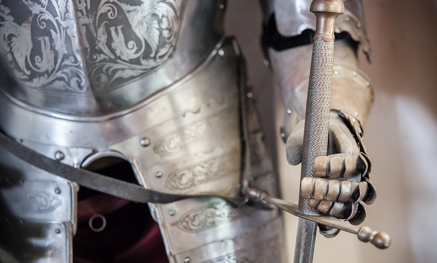
[[[71,262],[77,185],[3,150],[0,170],[2,250],[18,262]]]

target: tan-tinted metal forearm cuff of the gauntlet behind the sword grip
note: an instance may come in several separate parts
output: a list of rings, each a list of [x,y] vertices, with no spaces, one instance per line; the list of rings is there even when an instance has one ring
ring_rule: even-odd
[[[283,102],[289,109],[284,113],[281,130],[285,140],[305,116],[311,50],[309,45],[281,52],[269,50],[270,63],[278,79]],[[331,108],[342,108],[353,115],[357,113],[356,118],[364,126],[374,100],[371,81],[358,68],[357,56],[345,41],[336,41],[334,57]],[[290,68],[293,70],[287,70]]]

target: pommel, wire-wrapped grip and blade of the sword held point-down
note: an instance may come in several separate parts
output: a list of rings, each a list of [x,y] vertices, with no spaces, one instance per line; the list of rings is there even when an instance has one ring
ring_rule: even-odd
[[[300,179],[314,176],[314,160],[327,153],[331,86],[334,59],[334,29],[338,16],[345,12],[342,0],[313,0],[310,11],[316,16],[316,30],[309,72],[306,99],[305,127],[302,145]],[[309,207],[300,197],[297,211],[316,216],[319,212]],[[317,223],[299,217],[294,262],[312,263]]]

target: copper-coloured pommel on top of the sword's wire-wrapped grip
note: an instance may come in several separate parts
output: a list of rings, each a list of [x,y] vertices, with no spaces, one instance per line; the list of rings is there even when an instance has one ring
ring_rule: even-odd
[[[342,0],[313,0],[309,9],[316,17],[314,39],[321,37],[326,42],[334,40],[336,19],[345,13]]]

